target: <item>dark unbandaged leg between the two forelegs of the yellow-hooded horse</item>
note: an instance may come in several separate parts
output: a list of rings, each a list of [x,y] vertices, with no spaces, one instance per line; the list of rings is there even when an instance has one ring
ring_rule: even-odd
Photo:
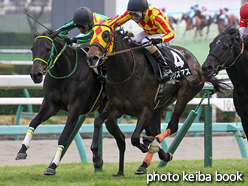
[[[121,132],[117,120],[108,120],[105,122],[109,133],[114,136],[119,148],[119,171],[113,177],[124,176],[124,153],[126,150],[125,136]]]

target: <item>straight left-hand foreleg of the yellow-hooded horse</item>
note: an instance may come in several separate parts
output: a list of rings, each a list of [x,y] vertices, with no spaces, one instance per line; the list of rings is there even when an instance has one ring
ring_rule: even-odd
[[[98,154],[98,139],[99,139],[100,128],[108,115],[109,112],[103,110],[103,112],[95,119],[94,122],[93,140],[90,149],[93,153],[93,163],[96,169],[101,168],[103,165],[102,157]]]

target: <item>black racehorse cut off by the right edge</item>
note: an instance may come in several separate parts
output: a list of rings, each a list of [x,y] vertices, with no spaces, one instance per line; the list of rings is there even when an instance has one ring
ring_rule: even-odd
[[[234,106],[248,136],[248,52],[244,49],[239,30],[231,26],[227,27],[214,38],[209,47],[209,54],[202,65],[203,73],[211,78],[226,69],[234,87]]]

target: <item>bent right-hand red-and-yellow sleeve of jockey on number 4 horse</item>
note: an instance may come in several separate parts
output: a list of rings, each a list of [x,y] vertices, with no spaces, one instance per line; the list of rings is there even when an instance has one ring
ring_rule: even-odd
[[[156,16],[155,21],[158,27],[165,33],[165,35],[161,37],[162,42],[168,42],[175,37],[175,34],[171,29],[168,21],[163,16]]]

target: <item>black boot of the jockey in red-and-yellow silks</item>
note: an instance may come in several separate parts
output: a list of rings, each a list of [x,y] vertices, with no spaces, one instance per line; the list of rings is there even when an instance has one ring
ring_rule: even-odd
[[[160,51],[157,49],[154,53],[152,53],[152,56],[156,59],[156,61],[160,65],[161,69],[161,80],[162,79],[169,79],[170,76],[172,75],[172,71],[168,64],[166,63],[165,59],[163,58],[162,54]]]

